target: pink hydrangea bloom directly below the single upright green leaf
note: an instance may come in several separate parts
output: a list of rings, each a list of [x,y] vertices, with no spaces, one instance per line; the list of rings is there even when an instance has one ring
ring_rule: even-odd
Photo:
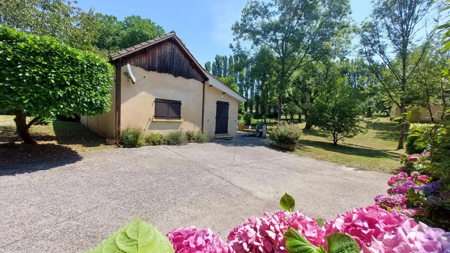
[[[229,233],[229,253],[288,253],[283,234],[289,227],[316,246],[325,244],[325,229],[302,212],[265,212],[263,217],[250,217]]]

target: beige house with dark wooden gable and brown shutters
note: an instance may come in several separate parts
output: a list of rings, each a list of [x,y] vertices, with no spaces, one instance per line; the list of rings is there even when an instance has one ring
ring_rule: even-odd
[[[238,103],[246,99],[203,69],[175,32],[109,58],[115,69],[111,111],[81,117],[92,131],[117,139],[121,127],[134,125],[145,134],[201,130],[236,136]]]

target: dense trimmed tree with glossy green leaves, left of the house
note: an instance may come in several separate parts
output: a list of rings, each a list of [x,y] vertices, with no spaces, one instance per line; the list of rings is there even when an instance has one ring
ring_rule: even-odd
[[[0,25],[0,69],[0,111],[14,112],[24,143],[36,143],[28,129],[41,117],[110,109],[111,64],[57,39]],[[38,117],[27,123],[27,113]]]

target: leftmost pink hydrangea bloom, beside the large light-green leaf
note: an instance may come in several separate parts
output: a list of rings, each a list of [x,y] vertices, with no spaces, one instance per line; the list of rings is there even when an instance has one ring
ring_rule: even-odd
[[[226,253],[228,248],[211,229],[182,227],[169,232],[166,237],[173,244],[175,253]]]

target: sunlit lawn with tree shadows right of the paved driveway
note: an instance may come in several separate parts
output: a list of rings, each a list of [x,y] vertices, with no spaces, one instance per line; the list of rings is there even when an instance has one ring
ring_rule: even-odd
[[[297,125],[302,129],[305,127],[305,123]],[[394,172],[400,167],[400,155],[405,152],[405,149],[395,150],[400,129],[384,116],[368,128],[366,134],[343,142],[339,140],[337,146],[333,146],[329,134],[305,130],[297,149],[290,153],[376,172]]]

